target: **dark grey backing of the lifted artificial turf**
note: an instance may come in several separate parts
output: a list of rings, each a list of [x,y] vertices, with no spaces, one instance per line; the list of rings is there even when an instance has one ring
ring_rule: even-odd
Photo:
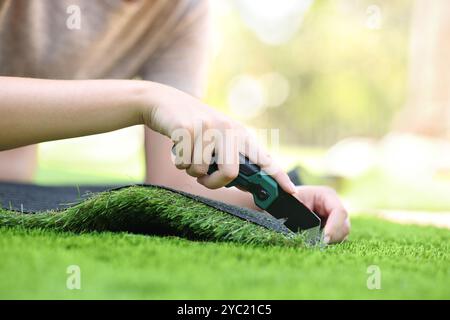
[[[228,205],[223,202],[162,186],[140,186],[159,187],[170,190],[270,230],[281,233],[290,233],[289,229],[287,229],[281,221],[263,212]],[[113,192],[114,190],[128,187],[130,186],[38,186],[17,183],[0,183],[0,204],[3,209],[22,213],[38,213],[50,210],[61,211],[92,197],[96,193],[105,191]]]

